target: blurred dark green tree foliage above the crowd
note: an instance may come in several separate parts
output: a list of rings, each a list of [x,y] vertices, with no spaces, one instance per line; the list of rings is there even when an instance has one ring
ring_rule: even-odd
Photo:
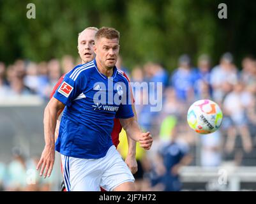
[[[28,3],[36,5],[36,19],[26,17]],[[218,18],[219,3],[227,4],[227,19]],[[130,68],[158,61],[171,71],[184,53],[194,64],[203,53],[217,63],[227,51],[239,62],[256,52],[255,13],[256,1],[0,0],[0,61],[77,57],[80,31],[109,26],[120,31],[121,55]]]

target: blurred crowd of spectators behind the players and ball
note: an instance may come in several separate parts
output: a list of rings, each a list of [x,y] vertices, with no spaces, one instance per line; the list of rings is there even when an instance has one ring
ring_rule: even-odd
[[[77,64],[80,64],[79,59],[70,55],[49,62],[18,59],[8,66],[0,62],[0,101],[19,96],[38,96],[49,101],[50,92],[61,75]],[[138,191],[180,190],[178,174],[184,165],[256,165],[254,57],[248,55],[241,64],[234,64],[233,55],[225,53],[219,64],[213,64],[211,57],[203,54],[197,64],[193,64],[190,56],[183,54],[171,73],[158,62],[126,68],[121,57],[117,67],[128,74],[131,82],[162,82],[163,85],[160,112],[152,112],[154,105],[142,103],[144,98],[156,97],[155,92],[151,92],[153,89],[133,89],[139,124],[144,131],[151,131],[154,138],[151,150],[145,152],[137,148],[139,171],[135,178]],[[222,126],[215,133],[198,135],[189,128],[186,113],[198,99],[212,99],[222,108]],[[119,151],[125,157],[127,147],[124,147],[123,138],[121,136]],[[22,150],[13,149],[13,161],[0,162],[0,191],[50,190],[51,179],[38,179],[37,185],[24,182],[26,170],[34,169],[36,160],[38,158],[22,156]]]

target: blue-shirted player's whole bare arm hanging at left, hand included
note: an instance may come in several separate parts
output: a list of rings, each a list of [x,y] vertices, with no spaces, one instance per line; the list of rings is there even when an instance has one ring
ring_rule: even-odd
[[[41,159],[36,167],[36,170],[40,169],[40,176],[44,178],[50,177],[55,160],[55,139],[54,133],[56,130],[57,113],[64,108],[64,104],[58,101],[56,98],[50,99],[48,105],[45,107],[43,116],[43,127],[45,133],[45,148],[41,154]]]

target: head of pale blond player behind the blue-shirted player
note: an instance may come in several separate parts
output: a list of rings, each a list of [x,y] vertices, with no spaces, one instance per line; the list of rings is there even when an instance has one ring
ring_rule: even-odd
[[[87,29],[79,35],[77,48],[79,50],[82,63],[90,62],[95,57],[93,51],[95,34],[96,31]]]

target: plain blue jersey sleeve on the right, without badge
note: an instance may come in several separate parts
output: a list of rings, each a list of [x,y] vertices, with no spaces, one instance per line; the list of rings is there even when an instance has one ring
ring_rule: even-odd
[[[130,85],[128,84],[128,80],[125,82],[125,89],[124,94],[126,94],[122,101],[121,104],[119,105],[119,109],[116,113],[116,118],[117,119],[128,119],[130,117],[133,117],[133,110],[132,110],[132,103],[131,103],[131,97],[130,97]]]

